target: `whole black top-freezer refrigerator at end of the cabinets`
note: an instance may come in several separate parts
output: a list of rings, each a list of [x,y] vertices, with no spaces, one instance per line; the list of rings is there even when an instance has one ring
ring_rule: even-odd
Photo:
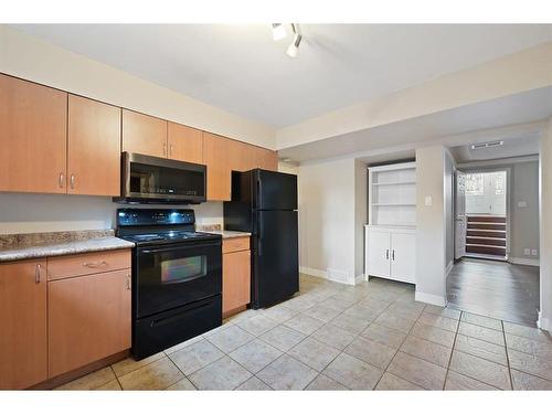
[[[232,172],[224,229],[252,233],[252,307],[299,290],[297,176],[255,169]]]

